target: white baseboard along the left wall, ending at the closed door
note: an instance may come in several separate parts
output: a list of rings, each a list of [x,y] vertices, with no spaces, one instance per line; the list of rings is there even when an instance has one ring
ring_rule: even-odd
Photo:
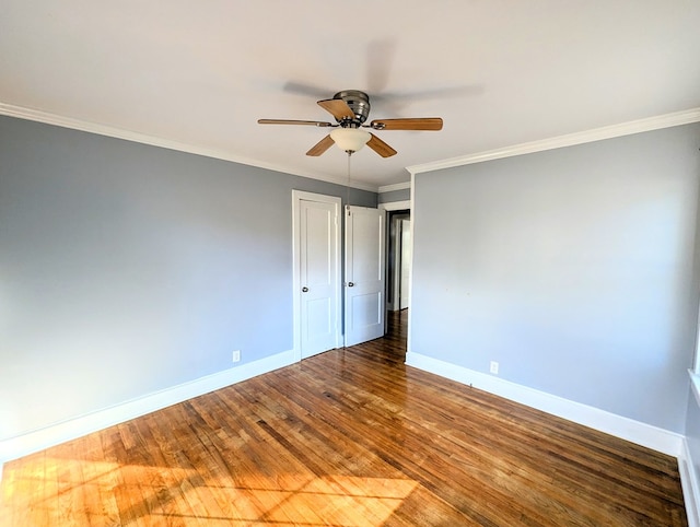
[[[283,351],[69,421],[0,441],[0,464],[288,366],[294,362],[293,355],[292,351]]]

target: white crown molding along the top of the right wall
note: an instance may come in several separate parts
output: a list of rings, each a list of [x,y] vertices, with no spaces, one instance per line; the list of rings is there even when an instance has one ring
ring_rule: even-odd
[[[478,152],[474,154],[460,155],[448,160],[424,163],[421,165],[408,166],[406,169],[411,174],[420,174],[422,172],[440,171],[442,168],[451,168],[454,166],[469,165],[472,163],[481,163],[485,161],[500,160],[503,157],[512,157],[515,155],[532,154],[534,152],[542,152],[545,150],[560,149],[563,147],[572,147],[574,144],[590,143],[600,141],[603,139],[612,139],[621,136],[630,136],[661,128],[670,128],[674,126],[688,125],[700,121],[700,108],[691,108],[674,114],[666,114],[646,119],[638,119],[619,125],[595,128],[567,136],[559,136],[539,141],[514,144],[502,149],[489,150],[487,152]]]

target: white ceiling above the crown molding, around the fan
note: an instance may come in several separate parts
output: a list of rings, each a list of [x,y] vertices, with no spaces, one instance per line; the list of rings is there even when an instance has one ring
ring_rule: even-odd
[[[177,141],[319,178],[346,154],[304,153],[332,120],[315,103],[370,94],[375,132],[352,179],[700,107],[698,0],[3,0],[0,103]]]

